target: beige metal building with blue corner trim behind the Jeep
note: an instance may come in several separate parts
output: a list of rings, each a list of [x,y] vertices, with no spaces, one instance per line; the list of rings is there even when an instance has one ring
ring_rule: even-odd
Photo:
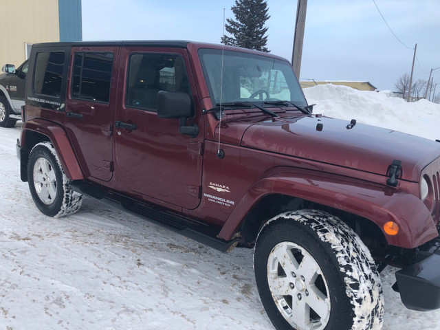
[[[1,0],[0,67],[21,65],[33,43],[81,40],[80,5],[80,0]]]

